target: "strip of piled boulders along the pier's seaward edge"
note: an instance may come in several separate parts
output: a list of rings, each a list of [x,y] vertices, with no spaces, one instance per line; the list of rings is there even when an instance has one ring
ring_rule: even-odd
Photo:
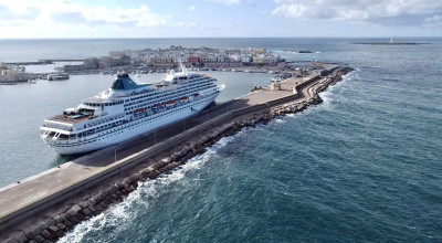
[[[312,95],[303,101],[295,101],[284,105],[269,107],[252,114],[234,117],[223,125],[213,127],[212,129],[200,134],[189,144],[175,148],[170,156],[158,159],[158,161],[151,163],[149,167],[143,168],[129,177],[108,184],[106,188],[99,190],[93,196],[81,199],[78,203],[56,213],[55,216],[40,222],[38,225],[14,234],[6,242],[54,242],[62,237],[67,231],[72,230],[74,225],[81,221],[97,215],[109,205],[123,201],[130,192],[137,189],[139,183],[155,180],[160,175],[167,175],[173,169],[179,169],[190,158],[203,154],[207,147],[215,144],[221,138],[232,136],[244,127],[251,127],[259,123],[266,124],[277,116],[298,113],[311,105],[320,104],[323,99],[318,96],[318,93],[323,92],[328,86],[336,84],[341,80],[343,75],[351,71],[351,67],[344,67],[334,75],[318,82],[316,85],[311,87]]]

